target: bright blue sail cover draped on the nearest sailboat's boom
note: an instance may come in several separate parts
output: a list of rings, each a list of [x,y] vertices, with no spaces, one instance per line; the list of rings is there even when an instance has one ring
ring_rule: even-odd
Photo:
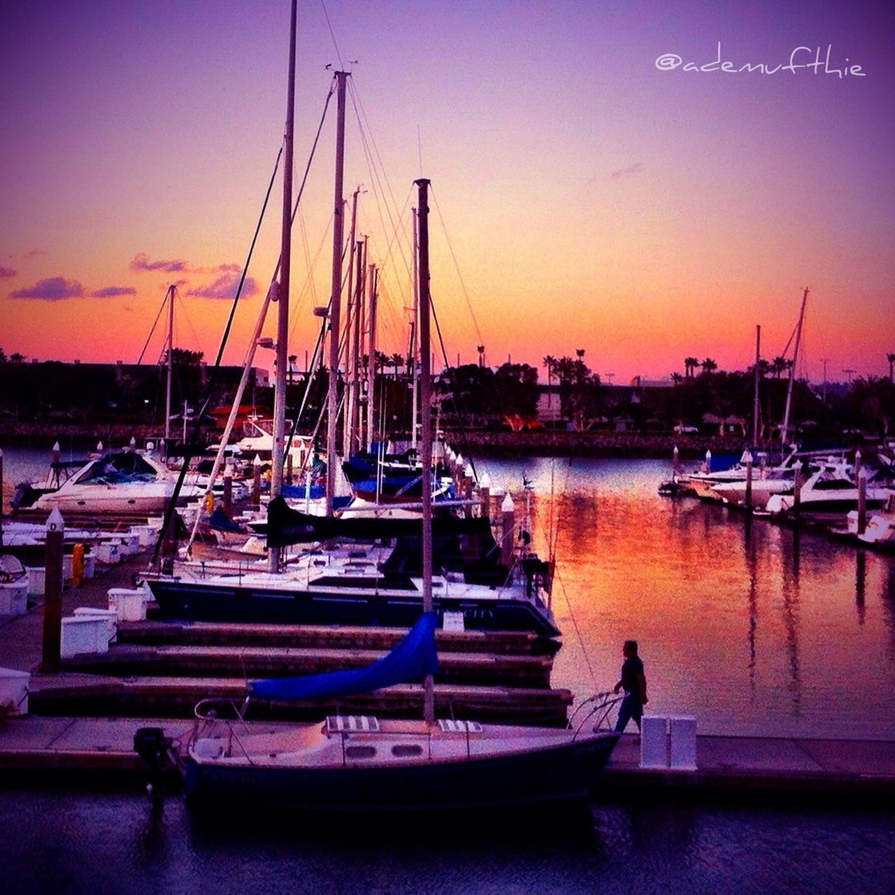
[[[279,700],[350,696],[370,693],[383,686],[422,680],[427,674],[435,674],[439,667],[435,650],[435,624],[435,613],[423,612],[391,652],[361,669],[255,680],[249,684],[249,695]]]

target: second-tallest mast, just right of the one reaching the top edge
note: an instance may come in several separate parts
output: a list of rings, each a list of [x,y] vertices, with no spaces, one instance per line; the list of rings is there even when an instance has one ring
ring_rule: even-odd
[[[345,227],[345,199],[342,181],[345,170],[345,79],[336,72],[338,114],[336,124],[336,189],[333,199],[333,278],[329,299],[329,400],[327,426],[327,516],[333,515],[336,495],[336,428],[338,413],[338,337],[342,311],[342,240]]]

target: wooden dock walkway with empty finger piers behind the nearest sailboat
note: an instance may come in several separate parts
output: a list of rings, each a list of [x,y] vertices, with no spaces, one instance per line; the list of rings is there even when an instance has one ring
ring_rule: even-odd
[[[144,565],[145,556],[138,554],[68,588],[64,614],[81,606],[105,606],[107,590],[130,586]],[[24,615],[0,618],[0,666],[31,672],[30,714],[0,714],[0,779],[55,780],[86,773],[97,782],[145,783],[147,769],[133,752],[137,729],[162,728],[183,752],[200,699],[241,704],[249,676],[361,665],[402,634],[396,628],[131,622],[119,626],[118,643],[109,652],[72,657],[59,674],[44,675],[37,670],[41,632],[39,602]],[[550,686],[553,657],[544,654],[536,638],[439,632],[439,648],[447,669],[435,687],[439,715],[565,723],[572,694]],[[254,729],[320,720],[333,712],[396,717],[422,712],[422,686],[391,686],[338,703],[257,704],[241,722]],[[644,769],[638,739],[626,734],[601,778],[599,795],[888,799],[895,794],[895,742],[699,735],[696,757],[695,770]]]

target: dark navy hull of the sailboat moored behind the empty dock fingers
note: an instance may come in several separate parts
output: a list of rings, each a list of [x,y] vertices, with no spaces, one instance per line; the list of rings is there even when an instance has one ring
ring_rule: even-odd
[[[186,621],[275,622],[294,625],[411,627],[422,612],[422,596],[363,592],[279,591],[263,587],[150,581],[164,618]],[[433,597],[434,609],[462,612],[467,630],[531,631],[558,637],[559,631],[533,603]]]

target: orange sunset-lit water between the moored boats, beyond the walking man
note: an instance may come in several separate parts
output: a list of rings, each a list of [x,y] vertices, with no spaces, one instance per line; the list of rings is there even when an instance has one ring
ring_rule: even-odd
[[[517,465],[488,470],[518,490]],[[553,473],[567,478],[554,494],[550,460],[525,470],[544,553],[539,529],[554,520],[553,604],[565,632],[555,686],[582,696],[610,686],[618,644],[632,637],[652,710],[695,714],[705,732],[895,736],[895,558],[661,498],[669,464],[575,461]]]

